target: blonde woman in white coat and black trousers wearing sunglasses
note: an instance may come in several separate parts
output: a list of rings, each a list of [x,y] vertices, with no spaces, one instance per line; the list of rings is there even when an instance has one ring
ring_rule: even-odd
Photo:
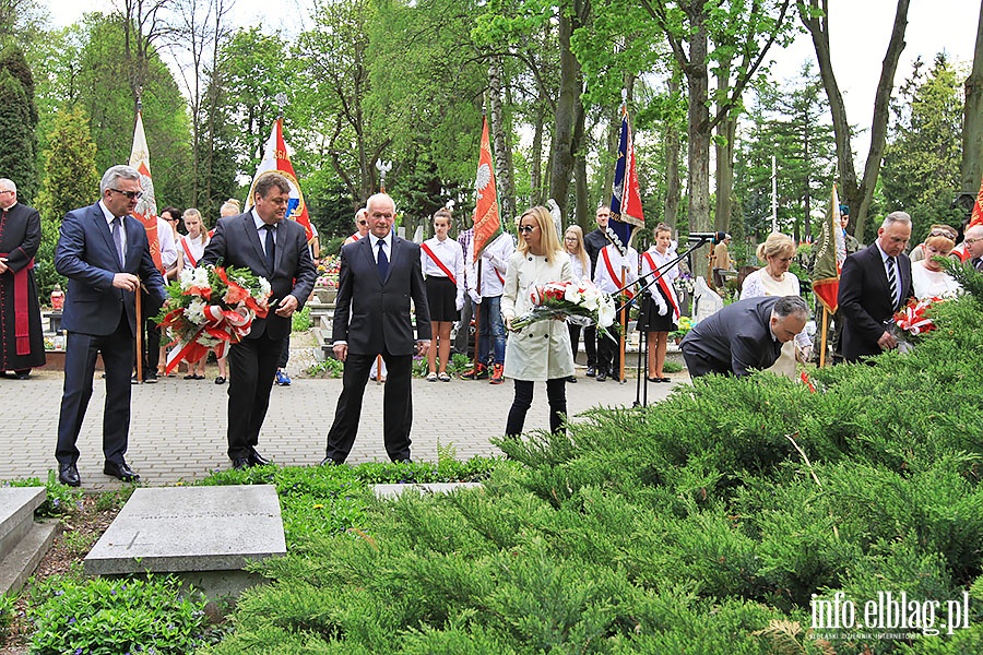
[[[546,381],[549,401],[549,429],[562,427],[567,414],[567,378],[573,374],[570,333],[561,320],[538,321],[513,332],[512,319],[532,309],[530,293],[549,282],[573,278],[570,258],[556,236],[553,217],[546,207],[526,210],[519,218],[519,249],[509,258],[501,314],[509,330],[505,377],[516,385],[516,397],[509,409],[506,434],[522,433],[525,413],[532,405],[533,382]]]

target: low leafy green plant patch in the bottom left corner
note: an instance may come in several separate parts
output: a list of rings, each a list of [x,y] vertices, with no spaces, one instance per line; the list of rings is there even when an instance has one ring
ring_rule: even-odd
[[[33,592],[32,653],[183,655],[199,643],[204,602],[173,576],[109,580],[55,575]]]

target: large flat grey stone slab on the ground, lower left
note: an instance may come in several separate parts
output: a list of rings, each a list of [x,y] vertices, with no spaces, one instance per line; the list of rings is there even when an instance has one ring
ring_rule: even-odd
[[[85,557],[90,575],[238,571],[285,555],[272,485],[137,489]]]

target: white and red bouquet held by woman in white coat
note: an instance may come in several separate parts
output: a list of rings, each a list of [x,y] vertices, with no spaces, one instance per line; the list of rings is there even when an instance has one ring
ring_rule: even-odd
[[[512,319],[511,327],[516,332],[537,321],[567,319],[578,325],[596,325],[611,336],[608,327],[614,325],[615,301],[590,282],[549,282],[533,288],[529,296],[533,308]]]

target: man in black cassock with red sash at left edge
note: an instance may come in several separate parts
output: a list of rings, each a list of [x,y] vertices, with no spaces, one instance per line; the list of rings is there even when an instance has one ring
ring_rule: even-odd
[[[0,376],[26,380],[45,365],[34,255],[40,243],[37,210],[17,202],[17,187],[0,179]]]

